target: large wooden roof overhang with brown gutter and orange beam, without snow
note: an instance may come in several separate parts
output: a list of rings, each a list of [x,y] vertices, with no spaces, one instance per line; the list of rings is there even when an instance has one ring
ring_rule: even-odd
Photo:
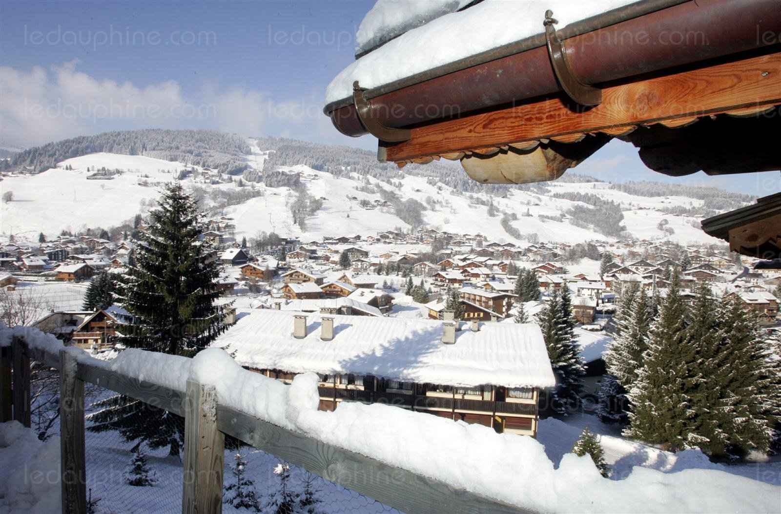
[[[598,102],[579,104],[573,98],[578,95],[566,87],[567,80],[559,80],[555,53],[540,34],[466,59],[461,69],[430,70],[398,84],[358,90],[354,102],[332,102],[324,110],[343,134],[358,136],[380,127],[381,161],[405,166],[461,160],[467,173],[483,182],[558,178],[612,137],[633,142],[647,166],[672,175],[781,168],[781,158],[768,146],[758,154],[756,146],[751,148],[751,162],[730,161],[729,155],[708,159],[700,152],[686,166],[671,166],[681,149],[665,134],[707,119],[685,133],[691,141],[703,141],[718,133],[714,125],[728,116],[756,120],[781,105],[777,0],[646,0],[630,7],[576,23],[567,27],[569,34],[548,34],[548,46],[551,37],[563,41],[569,78],[598,89]],[[665,33],[685,37],[679,45],[660,45]],[[637,44],[641,36],[644,45]],[[755,140],[769,126],[777,131],[778,118],[765,116],[761,127],[743,123],[738,135]],[[651,130],[637,130],[644,127]],[[497,170],[487,162],[499,163]],[[733,167],[727,170],[725,162]]]

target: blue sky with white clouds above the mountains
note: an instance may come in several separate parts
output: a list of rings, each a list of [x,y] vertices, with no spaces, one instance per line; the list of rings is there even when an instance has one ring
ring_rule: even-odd
[[[140,127],[203,127],[376,148],[323,116],[373,0],[0,2],[0,147]],[[581,170],[581,167],[578,168]],[[582,165],[765,195],[778,173],[668,179],[611,143]]]

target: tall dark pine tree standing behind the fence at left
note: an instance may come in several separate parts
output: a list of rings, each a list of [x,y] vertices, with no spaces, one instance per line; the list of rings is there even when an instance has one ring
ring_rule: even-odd
[[[129,269],[118,299],[134,323],[121,327],[123,343],[170,355],[192,355],[227,330],[225,306],[216,280],[219,267],[210,261],[198,236],[205,230],[201,212],[180,184],[169,184],[159,208],[150,212],[141,234],[137,265]],[[94,404],[88,430],[119,430],[126,441],[150,448],[169,446],[179,455],[184,419],[123,395]]]

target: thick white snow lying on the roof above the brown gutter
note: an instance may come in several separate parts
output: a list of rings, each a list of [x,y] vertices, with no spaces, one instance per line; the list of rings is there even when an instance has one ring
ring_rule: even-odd
[[[552,9],[558,29],[585,20],[633,0],[548,0],[547,2],[507,2],[484,0],[461,12],[461,2],[404,0],[377,2],[358,28],[359,51],[398,35],[392,41],[352,62],[326,89],[326,103],[348,98],[352,83],[379,87],[395,80],[465,59],[471,55],[541,34],[546,9]],[[445,9],[441,9],[442,5]],[[452,5],[448,5],[452,4]],[[421,25],[427,20],[428,23]],[[420,26],[419,26],[420,25]],[[416,27],[416,28],[412,28]],[[458,37],[469,34],[469,37]]]

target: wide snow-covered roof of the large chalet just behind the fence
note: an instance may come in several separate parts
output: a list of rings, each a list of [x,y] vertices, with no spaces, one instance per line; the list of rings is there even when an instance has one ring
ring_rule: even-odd
[[[356,373],[393,380],[473,387],[552,387],[555,377],[537,325],[481,323],[442,343],[442,322],[371,316],[333,317],[333,341],[320,340],[321,316],[293,337],[292,312],[256,309],[222,334],[242,366],[291,373]]]

